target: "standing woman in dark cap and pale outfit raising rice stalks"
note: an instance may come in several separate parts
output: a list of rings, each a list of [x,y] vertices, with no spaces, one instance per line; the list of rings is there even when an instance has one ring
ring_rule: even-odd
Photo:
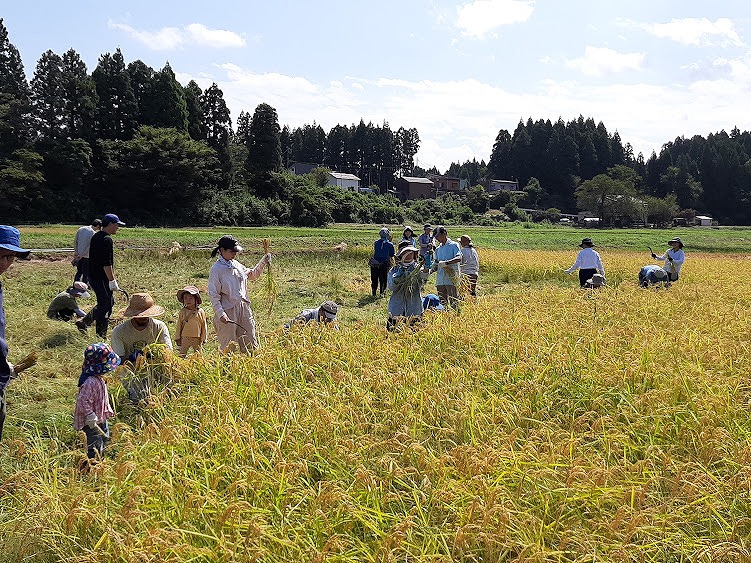
[[[254,268],[248,269],[235,260],[239,252],[242,246],[232,235],[220,238],[211,251],[212,258],[219,256],[209,271],[209,298],[220,349],[226,351],[230,342],[235,342],[241,351],[249,352],[258,348],[258,334],[248,298],[248,280],[258,279],[271,263],[271,254],[264,254]]]

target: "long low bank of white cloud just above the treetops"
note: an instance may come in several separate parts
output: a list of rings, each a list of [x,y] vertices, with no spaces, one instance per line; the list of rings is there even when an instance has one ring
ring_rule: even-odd
[[[751,128],[745,107],[751,95],[751,55],[717,59],[728,69],[721,79],[687,85],[627,84],[608,81],[546,80],[518,92],[480,82],[411,81],[399,78],[337,77],[314,83],[306,77],[254,73],[234,64],[218,67],[215,76],[183,76],[201,88],[216,82],[237,118],[260,103],[277,110],[281,125],[300,127],[315,121],[328,132],[335,125],[363,119],[392,129],[417,128],[420,165],[445,171],[451,162],[487,161],[500,129],[513,133],[519,120],[579,115],[602,121],[610,134],[631,143],[648,158],[678,136],[708,135],[735,125]]]

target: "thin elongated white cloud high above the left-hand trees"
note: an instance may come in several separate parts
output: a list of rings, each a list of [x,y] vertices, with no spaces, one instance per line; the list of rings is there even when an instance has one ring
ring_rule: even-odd
[[[200,23],[192,23],[183,29],[163,27],[155,32],[139,31],[129,25],[116,22],[109,22],[108,26],[110,29],[124,31],[130,37],[154,51],[170,51],[182,48],[186,44],[216,49],[245,45],[245,39],[234,31],[209,29]]]

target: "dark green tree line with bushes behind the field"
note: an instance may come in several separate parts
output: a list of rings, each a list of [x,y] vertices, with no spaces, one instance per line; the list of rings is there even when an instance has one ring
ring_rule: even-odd
[[[490,158],[452,163],[446,175],[470,189],[436,202],[400,204],[389,195],[415,166],[415,128],[360,121],[280,127],[260,104],[232,126],[216,84],[182,86],[169,63],[126,64],[119,49],[89,73],[78,53],[47,51],[27,81],[0,19],[0,220],[88,221],[118,210],[139,224],[300,224],[472,218],[490,207],[589,210],[603,219],[664,222],[695,210],[723,224],[750,224],[751,134],[737,128],[677,138],[645,161],[618,132],[580,116],[520,121],[499,131]],[[376,194],[341,194],[321,176],[285,173],[305,162],[361,178]],[[491,179],[516,180],[522,195],[487,193]],[[645,211],[646,210],[646,211]],[[468,215],[469,214],[469,215]],[[474,220],[478,221],[477,216]]]

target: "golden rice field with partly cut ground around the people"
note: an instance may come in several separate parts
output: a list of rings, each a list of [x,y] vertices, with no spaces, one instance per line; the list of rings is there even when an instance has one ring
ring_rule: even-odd
[[[692,252],[653,291],[644,253],[605,248],[611,287],[581,291],[560,272],[572,250],[481,247],[478,301],[390,334],[366,255],[280,252],[262,348],[167,358],[174,384],[146,409],[113,384],[112,449],[86,476],[70,412],[88,340],[40,313],[70,265],[14,265],[12,351],[40,364],[8,392],[0,561],[751,557],[745,256]],[[211,263],[118,260],[171,326]],[[340,332],[280,329],[323,298],[345,304]]]

